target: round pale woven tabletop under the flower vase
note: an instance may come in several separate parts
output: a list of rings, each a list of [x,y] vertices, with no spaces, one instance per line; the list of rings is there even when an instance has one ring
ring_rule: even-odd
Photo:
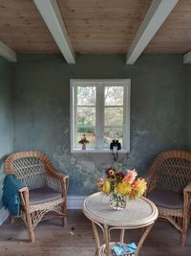
[[[123,210],[115,210],[108,205],[106,196],[98,192],[86,198],[83,212],[91,221],[111,226],[134,229],[150,225],[158,218],[156,205],[147,198],[129,200]]]

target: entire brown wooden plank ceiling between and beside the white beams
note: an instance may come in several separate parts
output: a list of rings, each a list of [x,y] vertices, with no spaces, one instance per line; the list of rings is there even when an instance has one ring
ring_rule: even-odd
[[[75,53],[125,54],[151,0],[57,0]],[[32,0],[0,0],[0,40],[16,52],[58,53]],[[180,0],[144,52],[191,49],[191,0]]]

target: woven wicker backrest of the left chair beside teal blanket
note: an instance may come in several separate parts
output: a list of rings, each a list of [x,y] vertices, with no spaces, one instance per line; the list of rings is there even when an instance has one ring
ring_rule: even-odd
[[[5,172],[15,175],[29,189],[40,188],[46,184],[48,161],[40,151],[20,151],[12,153],[5,161]]]

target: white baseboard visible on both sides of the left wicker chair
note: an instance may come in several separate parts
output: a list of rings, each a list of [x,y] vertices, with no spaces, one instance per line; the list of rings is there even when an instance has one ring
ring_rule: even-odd
[[[84,196],[68,196],[68,209],[82,209],[83,201],[86,197]],[[10,212],[5,207],[0,209],[0,225],[8,219]]]

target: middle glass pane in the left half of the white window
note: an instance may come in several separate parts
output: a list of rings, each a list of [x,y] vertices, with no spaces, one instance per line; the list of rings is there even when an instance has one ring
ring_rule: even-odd
[[[78,126],[96,126],[96,107],[78,106],[76,109],[76,123]]]

